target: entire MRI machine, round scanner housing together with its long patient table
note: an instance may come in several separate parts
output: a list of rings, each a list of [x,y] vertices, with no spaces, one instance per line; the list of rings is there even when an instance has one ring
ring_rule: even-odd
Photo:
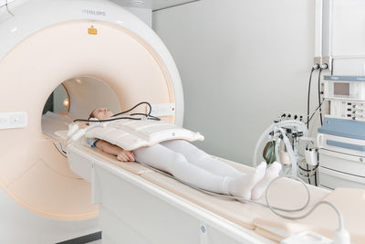
[[[154,115],[183,125],[182,82],[169,51],[119,5],[16,0],[8,11],[0,8],[0,84],[2,243],[77,243],[67,241],[100,230],[103,243],[277,243],[308,229],[330,237],[337,226],[326,207],[318,208],[320,220],[278,220],[265,207],[207,196],[141,164],[63,144],[68,123],[99,106],[122,111],[149,101]],[[67,111],[43,114],[60,85]],[[349,199],[309,188],[311,205]],[[273,187],[274,204],[302,206],[302,190],[283,179]],[[290,192],[297,197],[287,199]],[[363,199],[356,191],[345,194],[359,196],[357,207],[338,203],[346,220]],[[348,229],[361,240],[365,217],[357,217]]]

